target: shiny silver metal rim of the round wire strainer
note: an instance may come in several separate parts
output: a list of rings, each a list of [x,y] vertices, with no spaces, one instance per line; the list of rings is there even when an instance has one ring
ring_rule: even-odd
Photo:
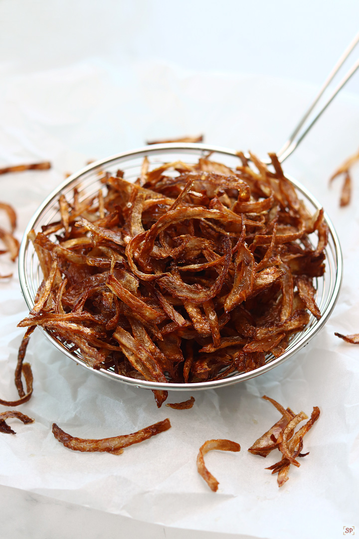
[[[193,154],[205,154],[208,152],[213,152],[216,154],[222,154],[232,157],[237,157],[236,151],[231,150],[228,148],[221,148],[217,146],[207,146],[206,144],[198,144],[198,143],[166,143],[166,144],[153,144],[153,146],[146,146],[143,148],[139,148],[137,150],[124,152],[121,154],[112,155],[110,157],[107,157],[103,160],[96,161],[94,163],[91,163],[87,167],[81,169],[80,171],[76,172],[75,174],[69,176],[66,178],[64,182],[62,182],[56,189],[54,189],[50,195],[48,195],[44,202],[39,206],[38,210],[34,213],[32,218],[30,219],[29,224],[27,225],[22,243],[20,245],[20,251],[19,251],[19,279],[20,279],[20,286],[22,288],[22,293],[24,296],[24,299],[26,301],[27,307],[29,310],[32,309],[34,305],[34,296],[30,292],[29,287],[29,275],[27,274],[27,267],[26,267],[26,253],[29,248],[29,239],[27,239],[27,234],[35,227],[36,223],[38,222],[39,217],[43,213],[43,211],[47,208],[48,205],[50,205],[54,200],[57,201],[59,198],[59,195],[63,190],[66,190],[69,186],[69,184],[72,184],[74,181],[79,180],[82,176],[85,174],[88,174],[88,172],[96,171],[98,169],[105,169],[106,165],[109,165],[113,163],[114,161],[120,161],[120,160],[126,160],[128,158],[136,158],[136,157],[144,157],[144,156],[151,156],[156,154],[166,154],[166,153],[173,153],[175,151],[186,151],[186,153],[193,153]],[[311,204],[314,206],[315,209],[320,209],[322,206],[317,201],[317,199],[309,192],[303,185],[301,185],[297,180],[295,180],[292,177],[287,176],[288,179],[293,183],[295,188],[302,194],[304,197],[311,202]],[[147,388],[147,389],[157,389],[157,390],[177,390],[177,391],[194,391],[194,390],[203,390],[203,389],[216,389],[221,388],[223,386],[236,384],[238,382],[244,382],[245,380],[249,380],[250,378],[254,378],[256,376],[259,376],[261,374],[264,374],[264,372],[268,372],[269,370],[273,369],[274,367],[277,367],[278,365],[284,363],[286,360],[288,360],[290,357],[292,357],[299,349],[304,347],[313,337],[318,333],[318,331],[323,327],[323,325],[328,320],[328,317],[332,313],[335,303],[337,301],[337,298],[339,296],[341,281],[342,281],[342,273],[343,273],[343,259],[342,259],[342,252],[341,247],[339,243],[339,238],[337,237],[336,231],[334,229],[334,226],[327,215],[327,213],[324,213],[326,222],[329,227],[329,234],[330,238],[333,243],[333,257],[334,262],[336,266],[336,274],[332,275],[330,273],[330,283],[329,286],[332,288],[332,294],[330,296],[330,300],[327,302],[327,305],[325,307],[325,310],[322,312],[322,316],[319,321],[314,321],[312,326],[308,328],[308,330],[304,330],[304,334],[299,338],[297,342],[295,342],[292,346],[285,351],[283,355],[280,357],[273,359],[269,363],[266,363],[263,367],[260,367],[254,371],[246,372],[243,374],[237,374],[234,376],[231,376],[229,378],[223,378],[221,380],[216,380],[213,382],[198,382],[193,384],[178,384],[178,383],[167,383],[167,384],[161,384],[158,382],[149,382],[149,381],[142,381],[138,379],[133,378],[127,378],[122,375],[118,375],[115,372],[110,372],[105,369],[95,370],[91,367],[89,367],[84,361],[81,360],[81,358],[73,353],[70,353],[69,350],[57,339],[55,339],[47,330],[40,327],[40,329],[43,331],[45,336],[52,342],[52,344],[60,350],[62,353],[66,354],[69,358],[71,358],[76,363],[81,364],[83,367],[88,369],[91,372],[96,372],[97,374],[100,374],[102,376],[115,379],[118,382],[122,382],[125,384],[129,384],[136,387],[141,388]],[[334,281],[333,281],[334,280]]]

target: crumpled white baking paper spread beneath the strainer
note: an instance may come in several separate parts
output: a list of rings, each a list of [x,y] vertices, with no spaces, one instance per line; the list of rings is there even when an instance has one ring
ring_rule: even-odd
[[[7,75],[0,82],[0,167],[48,160],[50,171],[0,176],[0,200],[18,213],[16,235],[37,206],[90,158],[143,146],[145,140],[205,134],[206,142],[276,150],[312,99],[315,88],[269,77],[215,75],[161,63],[121,69],[99,60],[46,72]],[[66,502],[182,529],[253,538],[340,537],[358,526],[359,348],[334,336],[359,332],[359,190],[339,208],[333,170],[357,149],[359,98],[342,94],[308,135],[285,170],[321,201],[341,240],[344,276],[337,306],[321,333],[295,357],[248,382],[221,390],[170,392],[167,402],[195,397],[191,410],[157,409],[151,391],[91,373],[39,330],[26,360],[34,392],[19,409],[35,419],[13,420],[16,436],[1,435],[0,483]],[[355,175],[354,175],[355,176]],[[356,174],[356,178],[359,175]],[[6,226],[6,219],[0,216]],[[16,265],[0,258],[0,396],[16,399],[13,372],[27,314]],[[310,454],[280,489],[264,469],[280,458],[248,453],[278,420],[262,395],[296,412],[321,416],[304,440]],[[2,410],[5,407],[2,406]],[[166,417],[172,428],[122,455],[78,453],[55,440],[51,425],[83,438],[137,431]],[[196,471],[206,439],[228,438],[240,453],[212,452],[213,493]]]

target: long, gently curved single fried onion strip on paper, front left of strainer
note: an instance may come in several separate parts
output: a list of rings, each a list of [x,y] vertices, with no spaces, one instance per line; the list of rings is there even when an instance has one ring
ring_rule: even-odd
[[[145,429],[141,429],[132,434],[124,434],[122,436],[114,436],[112,438],[102,438],[99,440],[75,438],[64,432],[56,423],[52,425],[54,437],[61,442],[65,447],[73,451],[105,451],[113,455],[121,455],[125,447],[133,444],[139,444],[141,441],[147,440],[152,436],[156,436],[160,432],[167,431],[171,428],[169,419],[164,419],[158,423],[154,423]]]

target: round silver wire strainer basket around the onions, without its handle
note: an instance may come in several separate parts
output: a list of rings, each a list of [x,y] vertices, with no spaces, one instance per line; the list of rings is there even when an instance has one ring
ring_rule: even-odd
[[[31,218],[25,230],[24,238],[20,247],[19,278],[27,307],[29,307],[29,309],[33,307],[36,292],[42,280],[37,254],[31,241],[27,239],[27,234],[32,229],[34,229],[35,232],[39,232],[42,225],[59,220],[60,213],[58,199],[61,194],[68,197],[72,195],[73,189],[77,187],[80,191],[80,201],[85,197],[95,195],[98,192],[98,189],[103,187],[103,184],[100,181],[100,178],[103,176],[103,172],[108,171],[112,175],[115,175],[118,168],[124,171],[124,178],[126,180],[135,181],[136,178],[140,176],[140,169],[145,156],[149,158],[151,170],[152,168],[156,168],[163,163],[178,160],[186,163],[196,163],[200,157],[208,155],[209,152],[212,153],[211,159],[214,161],[222,162],[231,168],[235,168],[238,165],[238,156],[234,150],[207,146],[205,144],[156,144],[127,153],[117,154],[107,159],[92,163],[61,183],[58,188],[45,199],[43,204],[41,204],[40,208]],[[300,183],[295,179],[289,179],[299,192],[309,211],[313,213],[316,209],[321,208],[319,202],[316,201],[316,199],[309,191],[307,191],[307,189],[300,185]],[[220,388],[259,376],[264,372],[277,367],[277,365],[280,365],[288,358],[293,356],[293,354],[295,354],[298,350],[304,347],[308,341],[311,340],[311,338],[322,328],[335,306],[342,279],[342,254],[337,234],[326,213],[325,219],[329,227],[329,240],[325,249],[326,271],[323,277],[316,278],[313,281],[314,287],[316,288],[316,303],[322,314],[321,319],[316,320],[316,318],[311,315],[308,325],[304,330],[296,333],[292,337],[290,344],[283,355],[278,358],[268,355],[266,357],[265,365],[254,371],[245,372],[242,374],[232,372],[226,378],[213,382],[162,384],[159,382],[142,381],[116,374],[116,372],[111,370],[100,369],[94,371],[86,364],[86,361],[81,356],[80,350],[74,350],[73,345],[71,346],[70,344],[60,342],[60,340],[52,335],[50,331],[47,331],[41,327],[40,329],[43,330],[46,337],[55,345],[55,347],[86,369],[96,372],[102,376],[115,379],[118,382],[135,385],[142,388],[180,391],[191,389],[192,391]]]

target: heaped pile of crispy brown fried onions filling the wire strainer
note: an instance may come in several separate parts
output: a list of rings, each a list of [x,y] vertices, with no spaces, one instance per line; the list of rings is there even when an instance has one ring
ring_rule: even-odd
[[[118,170],[97,196],[61,195],[59,220],[30,233],[44,280],[19,326],[162,389],[283,354],[309,312],[320,317],[328,227],[270,157],[238,153],[235,170],[208,157],[150,170],[145,157],[135,183]]]

